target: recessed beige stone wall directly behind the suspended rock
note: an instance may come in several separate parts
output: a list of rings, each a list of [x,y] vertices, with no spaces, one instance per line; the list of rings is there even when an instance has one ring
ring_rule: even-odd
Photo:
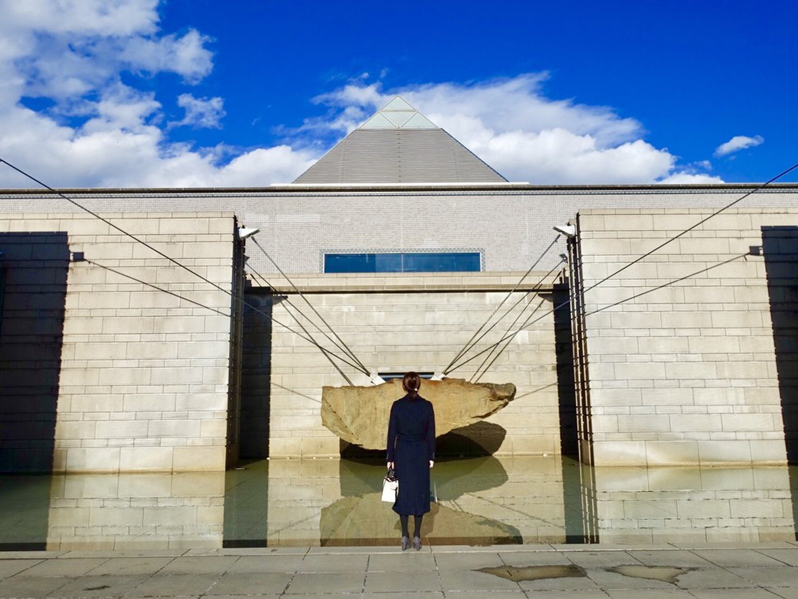
[[[499,325],[465,356],[470,358],[496,343],[508,329],[515,331],[525,319],[537,320],[512,338],[480,379],[484,383],[514,383],[517,387],[516,399],[508,407],[464,432],[481,445],[492,447],[496,454],[559,452],[552,276],[545,281],[547,292],[527,295],[543,274],[532,273],[527,278],[524,291],[513,293],[492,319],[495,322],[503,316]],[[456,356],[522,275],[296,276],[292,280],[369,370],[437,372]],[[283,285],[279,288],[285,289]],[[346,379],[322,351],[279,323],[302,332],[298,327],[301,322],[323,347],[341,352],[310,324],[308,319],[323,327],[303,300],[294,292],[286,293],[286,297],[306,318],[287,301],[275,302],[270,454],[337,456],[338,437],[322,426],[322,386],[346,385]],[[518,300],[518,306],[506,313]],[[473,359],[450,375],[470,379],[488,355]],[[338,365],[352,383],[369,384],[368,377],[353,367]]]

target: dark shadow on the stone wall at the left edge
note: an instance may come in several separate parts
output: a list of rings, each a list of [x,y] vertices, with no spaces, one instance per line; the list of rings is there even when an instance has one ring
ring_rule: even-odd
[[[0,233],[0,472],[53,469],[69,245]]]

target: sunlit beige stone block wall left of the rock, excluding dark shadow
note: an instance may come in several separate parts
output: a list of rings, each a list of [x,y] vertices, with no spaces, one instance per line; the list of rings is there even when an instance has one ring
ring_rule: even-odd
[[[231,289],[233,215],[103,216]],[[69,252],[85,254],[69,262],[57,331],[53,470],[223,469],[230,296],[89,215],[9,215],[0,227],[65,232]],[[36,290],[28,291],[35,310]]]

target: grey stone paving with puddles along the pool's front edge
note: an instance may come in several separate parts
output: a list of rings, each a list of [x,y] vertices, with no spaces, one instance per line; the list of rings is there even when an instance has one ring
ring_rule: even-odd
[[[798,542],[0,553],[0,597],[798,599]]]

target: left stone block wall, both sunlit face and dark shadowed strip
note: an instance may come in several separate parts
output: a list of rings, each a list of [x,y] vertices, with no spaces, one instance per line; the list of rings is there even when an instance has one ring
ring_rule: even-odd
[[[231,214],[103,216],[231,289]],[[30,236],[45,243],[30,244]],[[5,428],[18,430],[3,436],[3,470],[30,469],[32,441],[49,450],[56,471],[223,469],[230,296],[83,214],[8,215],[0,244],[17,258],[6,263],[2,346],[60,347],[47,364],[29,355],[28,374],[3,354],[3,376],[16,376],[20,390],[2,399]],[[69,252],[86,260],[69,262]],[[65,274],[60,306],[53,300],[53,288],[63,285],[58,268]],[[53,368],[57,387],[37,391],[48,400],[38,405],[26,394],[39,372]],[[41,456],[35,461],[44,464]]]

